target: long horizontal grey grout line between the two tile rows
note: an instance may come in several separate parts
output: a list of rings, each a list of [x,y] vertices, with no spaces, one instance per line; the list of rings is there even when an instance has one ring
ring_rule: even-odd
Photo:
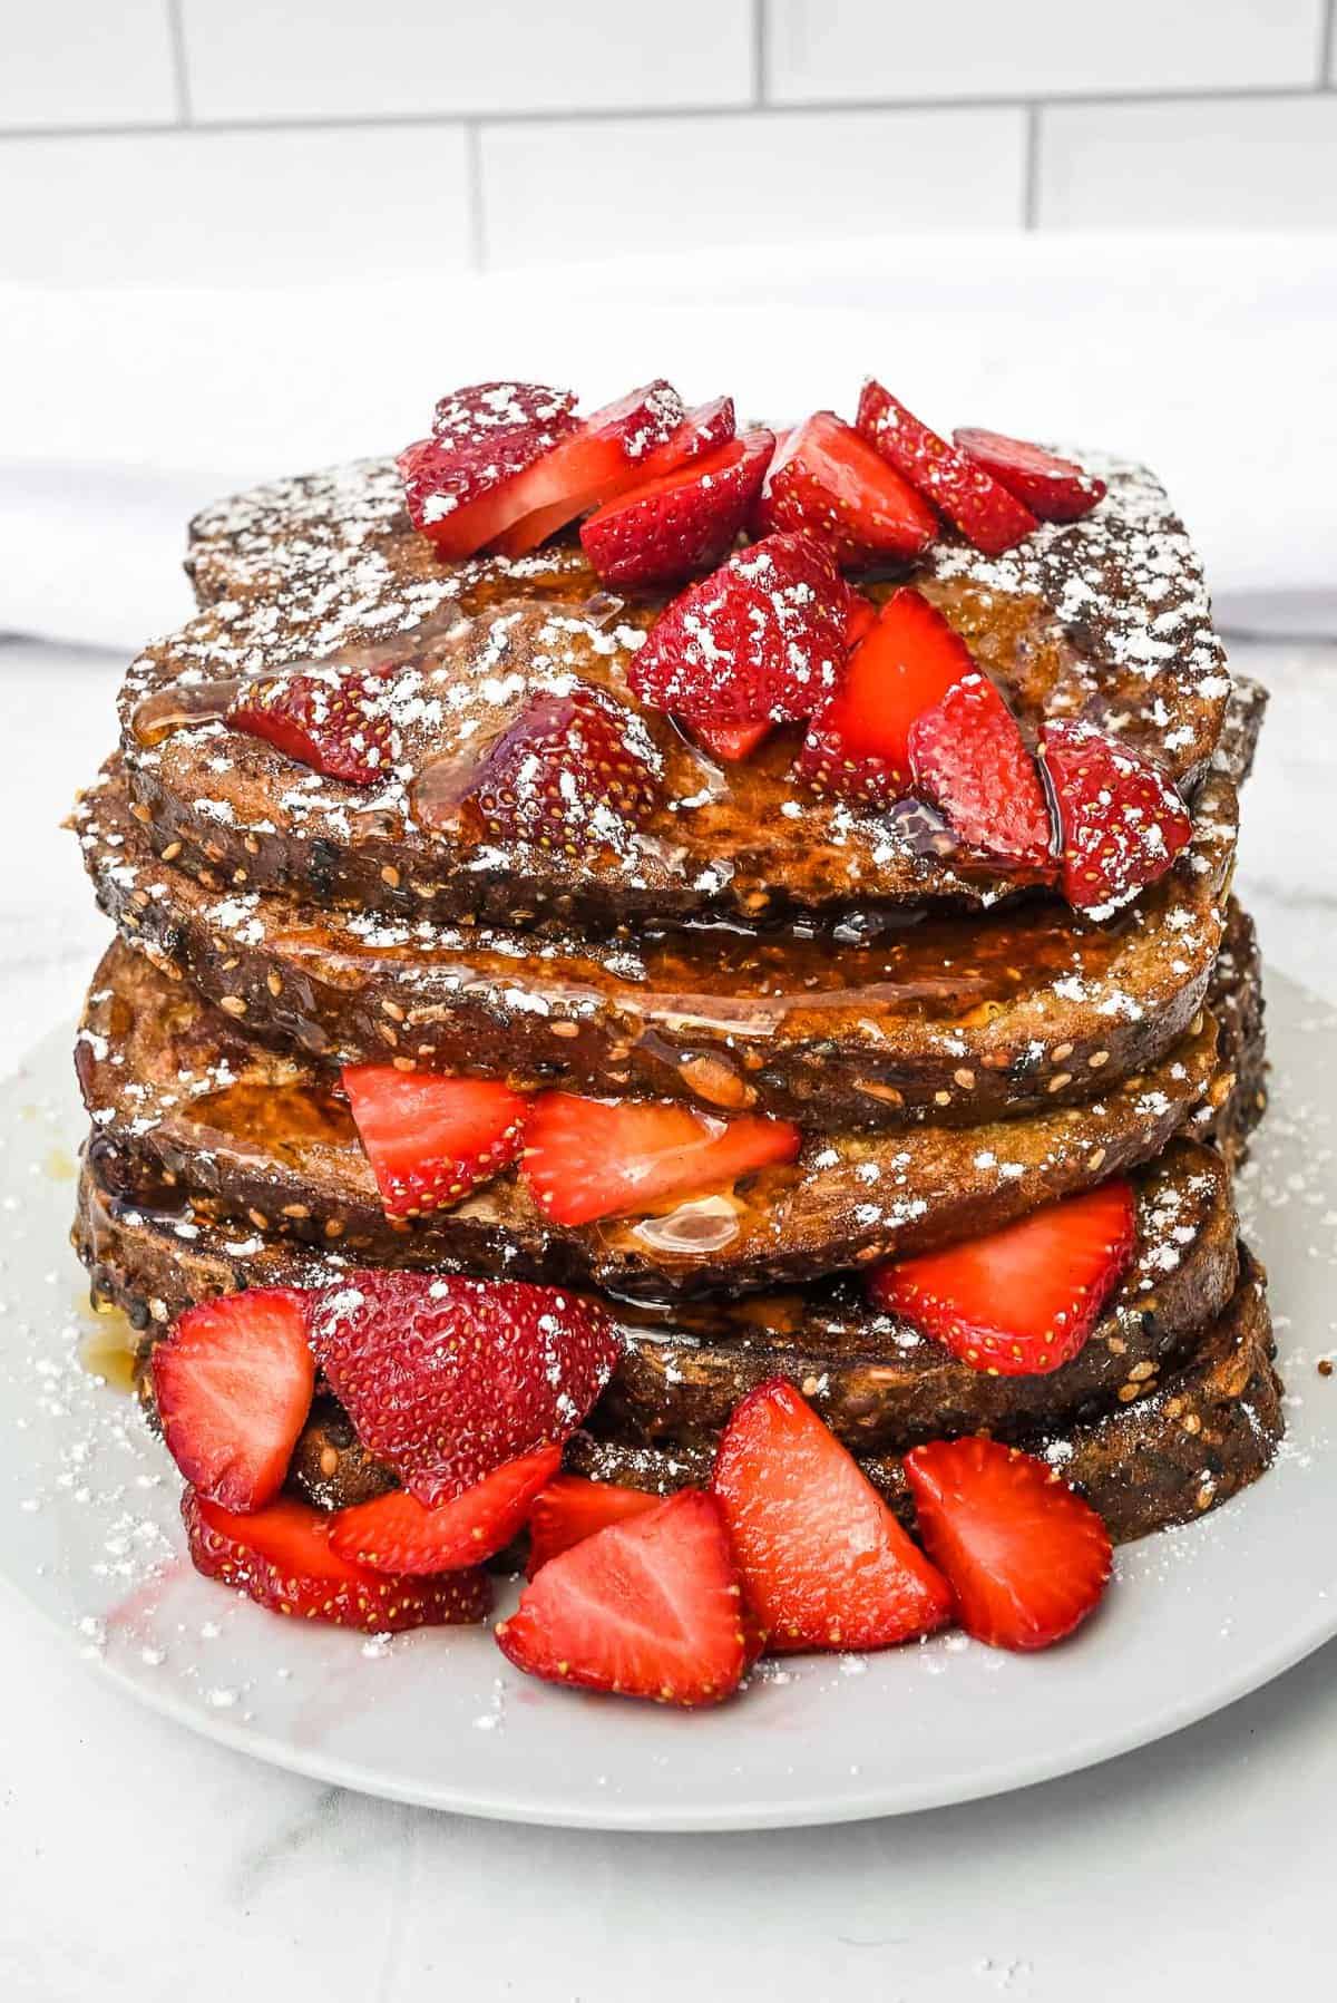
[[[170,0],[172,12],[176,12],[176,0]],[[188,98],[188,80],[182,74],[180,88]],[[356,132],[356,130],[380,130],[394,132],[400,128],[412,130],[422,126],[466,126],[476,124],[478,130],[486,126],[532,126],[532,124],[614,124],[636,122],[636,124],[660,124],[664,120],[711,120],[711,118],[739,118],[739,116],[759,116],[759,118],[821,118],[821,116],[841,116],[857,114],[869,116],[873,112],[945,112],[945,110],[1081,110],[1081,108],[1123,108],[1143,104],[1293,104],[1305,98],[1313,98],[1313,84],[1283,84],[1279,88],[1255,90],[1249,84],[1233,86],[1227,90],[1129,90],[1129,92],[1065,92],[1053,98],[1023,98],[1023,96],[933,96],[933,98],[805,98],[797,104],[775,102],[767,98],[763,104],[654,104],[654,106],[614,106],[614,108],[586,108],[586,110],[536,110],[536,112],[348,112],[330,114],[316,118],[208,118],[198,120],[190,112],[190,130],[198,134],[210,132]],[[186,106],[188,108],[188,106]],[[180,130],[178,126],[164,120],[124,120],[120,124],[48,124],[48,126],[22,126],[22,128],[0,128],[0,144],[22,142],[22,140],[52,140],[52,138],[152,138],[162,132]]]

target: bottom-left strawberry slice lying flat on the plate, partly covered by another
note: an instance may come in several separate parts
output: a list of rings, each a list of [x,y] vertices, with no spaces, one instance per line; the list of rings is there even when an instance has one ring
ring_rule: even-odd
[[[492,1604],[486,1572],[406,1578],[354,1564],[330,1540],[338,1518],[290,1496],[254,1516],[234,1516],[186,1488],[180,1512],[196,1572],[236,1586],[276,1614],[398,1634],[482,1620]]]

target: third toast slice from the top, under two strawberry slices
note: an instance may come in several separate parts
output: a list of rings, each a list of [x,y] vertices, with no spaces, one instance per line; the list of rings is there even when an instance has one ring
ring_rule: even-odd
[[[1147,1162],[1233,1090],[1217,1024],[1083,1106],[973,1128],[809,1136],[795,1164],[656,1214],[552,1222],[518,1170],[412,1224],[384,1214],[338,1076],[252,1042],[116,941],[76,1070],[104,1176],[152,1202],[164,1176],[200,1218],[338,1244],[364,1264],[438,1266],[626,1298],[749,1292],[929,1250]],[[1205,1104],[1207,1102],[1207,1104]]]

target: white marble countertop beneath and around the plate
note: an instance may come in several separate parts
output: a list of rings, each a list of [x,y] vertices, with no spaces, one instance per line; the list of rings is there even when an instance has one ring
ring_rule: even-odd
[[[1337,649],[1233,659],[1273,689],[1239,889],[1267,959],[1337,999]],[[110,745],[118,671],[0,643],[0,1072],[74,1014],[106,935],[56,823]],[[658,2003],[685,1985],[1179,2003],[1187,1981],[1305,1997],[1331,1983],[1335,1857],[1337,1644],[1173,1741],[1021,1795],[827,1831],[600,1837],[250,1763],[138,1711],[0,1586],[4,2003]]]

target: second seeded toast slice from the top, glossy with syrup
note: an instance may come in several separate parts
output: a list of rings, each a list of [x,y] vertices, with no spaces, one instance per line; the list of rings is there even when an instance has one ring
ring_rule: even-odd
[[[190,875],[154,855],[116,767],[74,827],[122,935],[276,1048],[841,1132],[1067,1106],[1163,1058],[1217,959],[1237,799],[1209,775],[1193,843],[1109,925],[1031,899],[602,941],[322,911]]]

